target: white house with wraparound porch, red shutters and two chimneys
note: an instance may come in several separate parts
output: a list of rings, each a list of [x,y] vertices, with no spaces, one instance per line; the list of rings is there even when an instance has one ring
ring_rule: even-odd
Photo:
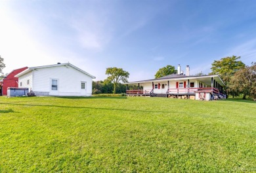
[[[186,75],[178,66],[178,73],[126,83],[127,96],[160,96],[169,98],[190,98],[196,100],[213,100],[225,98],[224,83],[219,75],[190,75],[190,67],[186,66]],[[130,87],[129,87],[130,85]],[[132,88],[128,90],[128,88]]]

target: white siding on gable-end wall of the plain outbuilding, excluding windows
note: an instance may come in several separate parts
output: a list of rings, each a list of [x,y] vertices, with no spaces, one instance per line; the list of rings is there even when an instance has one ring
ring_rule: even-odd
[[[84,96],[92,94],[92,78],[70,66],[34,69],[32,90],[51,94],[51,79],[58,79],[59,96],[81,96],[81,81],[87,82],[87,92]]]

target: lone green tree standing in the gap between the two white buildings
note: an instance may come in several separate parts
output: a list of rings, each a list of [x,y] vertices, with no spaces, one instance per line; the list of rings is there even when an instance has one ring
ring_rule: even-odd
[[[128,82],[127,78],[129,78],[130,73],[124,71],[122,68],[117,67],[108,67],[106,69],[106,75],[108,75],[107,81],[111,81],[114,84],[113,93],[116,94],[116,86],[119,81],[123,83]]]

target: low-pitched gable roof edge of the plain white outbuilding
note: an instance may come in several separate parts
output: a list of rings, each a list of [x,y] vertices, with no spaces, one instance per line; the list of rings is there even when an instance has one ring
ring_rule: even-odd
[[[17,75],[15,75],[15,77],[20,77],[30,71],[32,71],[33,69],[41,69],[41,68],[47,68],[47,67],[58,67],[58,66],[70,66],[73,67],[74,69],[76,69],[77,71],[80,71],[81,73],[84,73],[85,75],[89,75],[89,77],[95,79],[96,77],[87,73],[86,71],[83,71],[82,69],[79,69],[79,67],[74,66],[73,64],[70,63],[64,63],[64,64],[53,64],[53,65],[48,65],[48,66],[37,66],[37,67],[29,67],[28,69],[22,71],[21,73],[18,73]]]

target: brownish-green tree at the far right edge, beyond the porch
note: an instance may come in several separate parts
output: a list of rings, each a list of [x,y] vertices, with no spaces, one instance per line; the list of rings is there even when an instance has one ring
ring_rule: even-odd
[[[236,71],[230,79],[228,89],[231,92],[243,94],[243,99],[246,96],[256,98],[256,63]]]

